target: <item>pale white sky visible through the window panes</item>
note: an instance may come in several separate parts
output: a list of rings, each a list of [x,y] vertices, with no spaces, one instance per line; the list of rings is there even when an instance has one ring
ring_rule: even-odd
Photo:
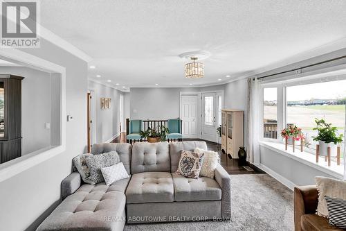
[[[287,87],[287,101],[346,98],[346,80]],[[276,88],[264,89],[264,100],[277,99]]]

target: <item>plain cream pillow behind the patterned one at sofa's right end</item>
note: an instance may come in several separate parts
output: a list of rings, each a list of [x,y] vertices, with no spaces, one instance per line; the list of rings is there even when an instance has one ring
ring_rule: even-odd
[[[199,176],[206,176],[207,178],[215,177],[215,169],[219,162],[219,153],[214,151],[206,151],[201,148],[194,148],[195,153],[204,153],[204,160],[201,167]]]

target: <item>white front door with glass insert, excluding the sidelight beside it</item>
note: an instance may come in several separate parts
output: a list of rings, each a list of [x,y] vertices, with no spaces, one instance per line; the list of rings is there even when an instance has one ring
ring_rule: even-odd
[[[217,94],[202,93],[202,139],[219,142],[217,133]]]

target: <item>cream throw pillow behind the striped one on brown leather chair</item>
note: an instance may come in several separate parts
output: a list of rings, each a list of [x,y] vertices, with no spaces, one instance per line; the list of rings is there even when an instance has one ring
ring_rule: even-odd
[[[316,176],[318,190],[318,216],[329,218],[325,196],[346,200],[346,181]]]

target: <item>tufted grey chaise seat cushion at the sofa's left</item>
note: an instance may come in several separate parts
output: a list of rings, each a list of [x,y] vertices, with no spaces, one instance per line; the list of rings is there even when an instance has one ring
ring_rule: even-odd
[[[82,185],[37,230],[122,230],[126,219],[126,198],[122,191],[128,180],[120,180],[110,187],[104,183]]]

